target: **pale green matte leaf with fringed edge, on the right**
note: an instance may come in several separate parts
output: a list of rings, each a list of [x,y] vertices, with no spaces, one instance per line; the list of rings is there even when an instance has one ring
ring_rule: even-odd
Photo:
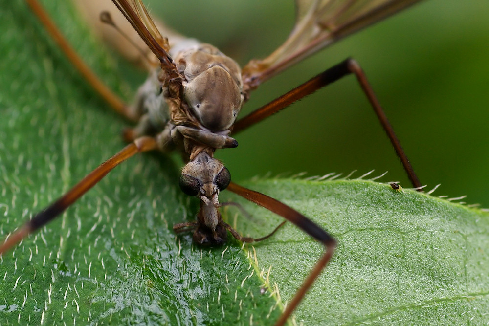
[[[369,181],[276,179],[246,185],[305,213],[339,242],[331,263],[297,311],[298,321],[306,325],[487,322],[487,213]],[[260,221],[238,223],[245,233],[263,234],[262,218],[271,226],[280,222],[263,210],[246,209]],[[321,253],[319,244],[292,225],[255,248],[260,265],[265,270],[272,266],[270,279],[279,284],[286,300]]]

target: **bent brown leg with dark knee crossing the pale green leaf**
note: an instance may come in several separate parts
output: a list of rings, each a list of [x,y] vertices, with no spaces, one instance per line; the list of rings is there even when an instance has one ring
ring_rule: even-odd
[[[246,189],[240,185],[237,185],[234,182],[231,182],[227,189],[232,191],[233,193],[242,196],[249,201],[258,204],[267,210],[284,217],[289,220],[297,227],[302,229],[304,232],[309,234],[312,238],[320,241],[325,246],[325,253],[316,263],[316,265],[312,268],[309,276],[304,280],[301,287],[295,293],[292,301],[287,305],[284,313],[280,316],[279,320],[275,325],[284,325],[290,314],[294,311],[295,307],[301,302],[302,298],[306,294],[307,290],[311,287],[312,283],[319,276],[323,268],[326,266],[328,261],[330,261],[333,256],[334,248],[336,247],[336,241],[330,236],[326,231],[321,229],[317,224],[311,221],[309,218],[305,217],[301,213],[297,212],[293,208],[287,206],[280,201],[273,199],[267,195],[261,194],[259,192]]]

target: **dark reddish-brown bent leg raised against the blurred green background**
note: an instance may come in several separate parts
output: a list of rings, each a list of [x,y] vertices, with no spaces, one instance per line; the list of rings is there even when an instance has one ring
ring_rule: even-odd
[[[244,118],[238,120],[234,124],[233,133],[237,133],[247,129],[248,127],[251,127],[252,125],[266,119],[267,117],[280,111],[281,109],[286,108],[287,106],[303,98],[304,96],[312,94],[319,88],[332,84],[335,81],[352,73],[355,74],[356,79],[360,84],[363,92],[367,96],[370,104],[372,105],[372,108],[374,109],[375,114],[377,115],[378,120],[382,125],[382,128],[387,133],[387,136],[389,137],[391,144],[394,147],[394,150],[396,151],[396,154],[398,155],[402,166],[404,167],[404,170],[409,177],[409,180],[411,180],[411,183],[415,188],[421,187],[421,182],[414,172],[413,166],[409,162],[406,153],[402,149],[400,141],[396,136],[396,133],[394,132],[391,124],[389,123],[389,120],[387,119],[384,110],[380,106],[380,103],[378,102],[378,99],[374,94],[374,90],[368,83],[365,73],[361,69],[360,65],[358,65],[358,63],[351,58],[348,58],[345,61],[329,68],[328,70],[311,78],[304,84],[292,89],[288,93],[280,96],[279,98],[276,98],[267,105],[261,107],[260,109],[256,109]]]

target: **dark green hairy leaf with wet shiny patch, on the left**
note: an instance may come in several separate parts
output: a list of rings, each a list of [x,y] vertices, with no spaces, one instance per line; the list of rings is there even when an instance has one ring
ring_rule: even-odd
[[[69,3],[45,5],[104,80],[123,88],[114,62],[73,21]],[[124,124],[73,71],[24,2],[8,2],[0,19],[4,238],[119,151]],[[2,257],[0,324],[277,318],[275,300],[260,294],[263,282],[240,243],[200,249],[191,235],[174,234],[173,224],[194,219],[196,203],[178,189],[174,160],[155,156],[117,167],[63,217]]]

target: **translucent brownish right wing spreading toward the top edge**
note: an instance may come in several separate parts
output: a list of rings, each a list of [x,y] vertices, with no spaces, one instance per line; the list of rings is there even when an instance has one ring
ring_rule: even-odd
[[[247,91],[325,46],[420,0],[295,0],[289,38],[264,60],[243,68]]]

